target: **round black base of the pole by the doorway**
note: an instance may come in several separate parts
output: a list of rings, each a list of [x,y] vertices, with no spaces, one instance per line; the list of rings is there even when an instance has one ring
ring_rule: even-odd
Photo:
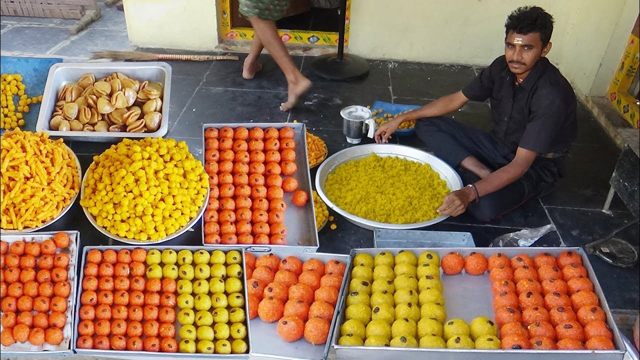
[[[342,61],[338,60],[338,54],[326,54],[317,56],[311,69],[325,79],[351,80],[369,74],[369,63],[351,54],[344,54]]]

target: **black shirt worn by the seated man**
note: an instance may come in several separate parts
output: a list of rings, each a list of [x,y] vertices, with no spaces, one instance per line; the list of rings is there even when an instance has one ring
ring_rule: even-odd
[[[500,56],[467,87],[472,101],[490,99],[492,135],[516,151],[518,147],[547,158],[561,158],[577,133],[577,102],[572,86],[547,58],[541,58],[519,85]]]

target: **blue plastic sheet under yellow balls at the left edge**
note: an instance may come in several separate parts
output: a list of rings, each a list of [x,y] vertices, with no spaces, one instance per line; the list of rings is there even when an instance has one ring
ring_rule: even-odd
[[[26,86],[26,94],[29,97],[42,95],[44,85],[47,83],[49,68],[54,63],[61,63],[62,59],[58,58],[16,58],[12,56],[0,56],[0,73],[1,74],[20,74],[22,75],[22,83]],[[18,106],[18,96],[13,97],[15,106]],[[30,104],[29,112],[24,114],[23,130],[35,131],[36,122],[38,122],[38,113],[40,112],[40,102],[38,104]],[[1,131],[4,133],[4,129]]]

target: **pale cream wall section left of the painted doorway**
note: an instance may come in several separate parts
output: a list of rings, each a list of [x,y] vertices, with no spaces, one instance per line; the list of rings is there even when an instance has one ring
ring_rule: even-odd
[[[124,0],[129,42],[211,51],[218,45],[215,0]]]

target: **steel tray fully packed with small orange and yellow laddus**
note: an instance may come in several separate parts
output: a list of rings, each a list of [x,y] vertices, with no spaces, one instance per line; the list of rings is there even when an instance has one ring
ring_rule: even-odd
[[[82,252],[82,263],[81,263],[81,269],[84,269],[84,265],[86,264],[86,254],[89,252],[89,250],[92,249],[99,249],[101,251],[104,251],[106,249],[113,249],[113,250],[121,250],[121,249],[136,249],[136,247],[140,247],[140,246],[136,246],[136,245],[123,245],[123,246],[89,246],[89,247],[84,247],[83,252]],[[207,250],[209,252],[213,251],[213,250],[222,250],[223,252],[228,252],[230,250],[238,250],[243,258],[242,258],[242,266],[244,269],[244,249],[242,249],[241,247],[202,247],[202,246],[147,246],[147,247],[143,247],[144,249],[150,250],[150,249],[157,249],[157,250],[165,250],[165,249],[173,249],[176,252],[179,252],[180,250],[191,250],[191,252],[195,252],[197,250]],[[146,266],[146,264],[145,264]],[[84,271],[81,271],[80,274],[80,279],[78,281],[78,284],[82,284],[83,278],[84,278]],[[244,286],[244,299],[248,299],[247,296],[247,292],[246,292],[246,274],[243,274],[243,286]],[[77,291],[77,299],[76,299],[76,315],[75,315],[75,320],[76,323],[80,323],[79,320],[79,310],[82,307],[80,304],[80,296],[81,296],[81,291]],[[251,334],[251,325],[249,322],[249,302],[245,301],[244,304],[244,313],[247,315],[247,324],[246,324],[246,339],[247,339],[247,344],[249,345],[249,352],[252,350],[252,334]],[[177,307],[176,307],[177,309]],[[177,314],[177,311],[176,311]],[[178,320],[176,319],[175,321],[175,333],[178,334],[180,331],[180,323],[178,322]],[[99,357],[120,357],[120,358],[125,358],[125,359],[131,359],[131,358],[135,358],[135,357],[162,357],[162,358],[175,358],[175,359],[185,359],[185,358],[191,358],[191,359],[198,359],[198,358],[203,358],[203,357],[208,357],[210,359],[248,359],[249,358],[249,354],[184,354],[181,352],[175,352],[175,353],[168,353],[168,352],[147,352],[147,351],[136,351],[136,352],[132,352],[132,351],[118,351],[118,350],[97,350],[97,349],[83,349],[83,348],[77,348],[76,343],[77,343],[77,338],[78,338],[78,334],[77,334],[77,329],[76,327],[74,327],[73,329],[73,342],[72,342],[72,347],[73,350],[76,352],[76,354],[84,354],[84,355],[91,355],[91,356],[99,356]]]

